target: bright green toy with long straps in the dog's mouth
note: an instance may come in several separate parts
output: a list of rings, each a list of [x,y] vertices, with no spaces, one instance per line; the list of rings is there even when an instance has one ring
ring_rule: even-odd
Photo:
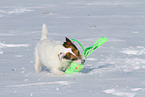
[[[85,56],[85,58],[87,58],[90,54],[92,54],[98,47],[100,47],[103,43],[107,42],[107,38],[103,38],[101,37],[100,39],[98,39],[94,45],[87,47],[86,49],[84,49],[83,45],[75,40],[75,39],[71,39],[72,41],[76,41],[79,43],[79,45],[81,46],[81,48],[83,49],[83,55]],[[65,73],[66,74],[73,74],[74,72],[80,72],[82,69],[84,68],[84,64],[78,64],[76,62],[72,62],[70,67],[68,69],[66,69]]]

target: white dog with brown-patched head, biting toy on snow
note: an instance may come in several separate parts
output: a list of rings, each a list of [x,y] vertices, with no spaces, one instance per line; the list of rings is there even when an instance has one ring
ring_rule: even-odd
[[[47,39],[47,33],[47,27],[43,24],[41,39],[35,48],[36,73],[39,73],[44,65],[51,73],[64,75],[65,70],[70,67],[72,62],[84,63],[84,57],[69,38],[65,37],[66,42],[61,43]]]

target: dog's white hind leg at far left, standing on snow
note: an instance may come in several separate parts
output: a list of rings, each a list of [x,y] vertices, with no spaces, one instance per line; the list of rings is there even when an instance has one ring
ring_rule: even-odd
[[[35,71],[36,73],[39,73],[42,69],[42,64],[40,62],[39,56],[38,56],[38,51],[37,48],[35,49]]]

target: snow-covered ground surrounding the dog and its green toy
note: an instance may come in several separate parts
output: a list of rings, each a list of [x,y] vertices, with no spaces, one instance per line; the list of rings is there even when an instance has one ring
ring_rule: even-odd
[[[145,0],[1,0],[0,97],[145,97],[144,20]],[[56,40],[108,42],[80,74],[36,74],[43,23]]]

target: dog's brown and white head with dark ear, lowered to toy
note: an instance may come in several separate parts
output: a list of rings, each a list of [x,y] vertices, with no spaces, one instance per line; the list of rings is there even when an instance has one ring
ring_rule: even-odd
[[[65,52],[63,55],[63,59],[72,61],[72,62],[77,62],[79,64],[84,63],[85,59],[84,57],[80,54],[80,51],[78,48],[72,43],[70,39],[66,38],[66,42],[64,42],[63,46],[65,48]]]

